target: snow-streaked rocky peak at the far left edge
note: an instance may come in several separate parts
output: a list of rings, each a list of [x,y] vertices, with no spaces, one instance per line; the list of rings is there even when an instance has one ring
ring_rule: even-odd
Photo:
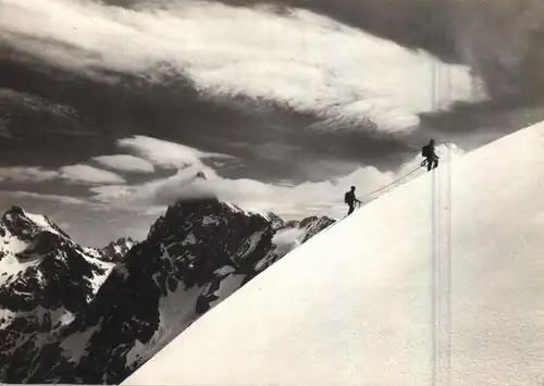
[[[13,207],[0,220],[0,379],[67,325],[112,269],[47,217]]]

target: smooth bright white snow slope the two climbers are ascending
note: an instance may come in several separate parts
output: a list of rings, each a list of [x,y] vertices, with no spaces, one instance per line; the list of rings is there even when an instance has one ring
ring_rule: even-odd
[[[536,386],[543,359],[541,123],[313,237],[124,385]]]

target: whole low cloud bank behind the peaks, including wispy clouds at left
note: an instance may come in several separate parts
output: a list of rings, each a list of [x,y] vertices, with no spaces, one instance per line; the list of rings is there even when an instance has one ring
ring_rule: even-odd
[[[131,144],[129,150],[126,144]],[[212,166],[205,163],[209,161],[209,157],[222,154],[203,152],[175,142],[135,136],[119,140],[118,148],[144,157],[146,162],[162,169],[163,172],[172,172],[173,165],[176,165],[176,172],[165,177],[159,176],[158,173],[147,173],[144,176],[149,179],[137,183],[85,164],[61,166],[55,171],[28,166],[7,167],[0,170],[1,175],[4,178],[11,176],[12,180],[26,183],[28,189],[38,188],[51,178],[62,177],[65,184],[77,183],[86,187],[88,194],[63,196],[25,190],[0,190],[0,203],[2,198],[7,198],[10,202],[16,199],[20,204],[41,208],[39,211],[51,214],[52,219],[67,222],[78,234],[78,239],[85,240],[86,244],[99,245],[110,240],[112,235],[145,237],[149,224],[163,214],[168,206],[180,199],[217,197],[247,211],[263,214],[274,212],[286,219],[299,220],[308,215],[329,215],[339,219],[346,211],[343,197],[349,186],[356,185],[359,198],[368,202],[425,173],[422,169],[411,173],[421,162],[419,157],[415,157],[401,167],[391,172],[366,166],[357,167],[347,175],[342,174],[336,178],[316,183],[267,184],[250,178],[223,177],[213,163]],[[441,146],[437,152],[442,155],[449,153],[453,157],[463,153],[454,145]],[[110,157],[109,160],[118,159],[115,155]],[[405,177],[408,174],[410,175]],[[396,182],[399,178],[400,180]],[[383,187],[386,188],[375,191]],[[88,219],[86,222],[95,224],[94,235],[84,232],[82,220],[85,219]],[[296,234],[284,236],[276,241],[282,245],[297,242]]]

